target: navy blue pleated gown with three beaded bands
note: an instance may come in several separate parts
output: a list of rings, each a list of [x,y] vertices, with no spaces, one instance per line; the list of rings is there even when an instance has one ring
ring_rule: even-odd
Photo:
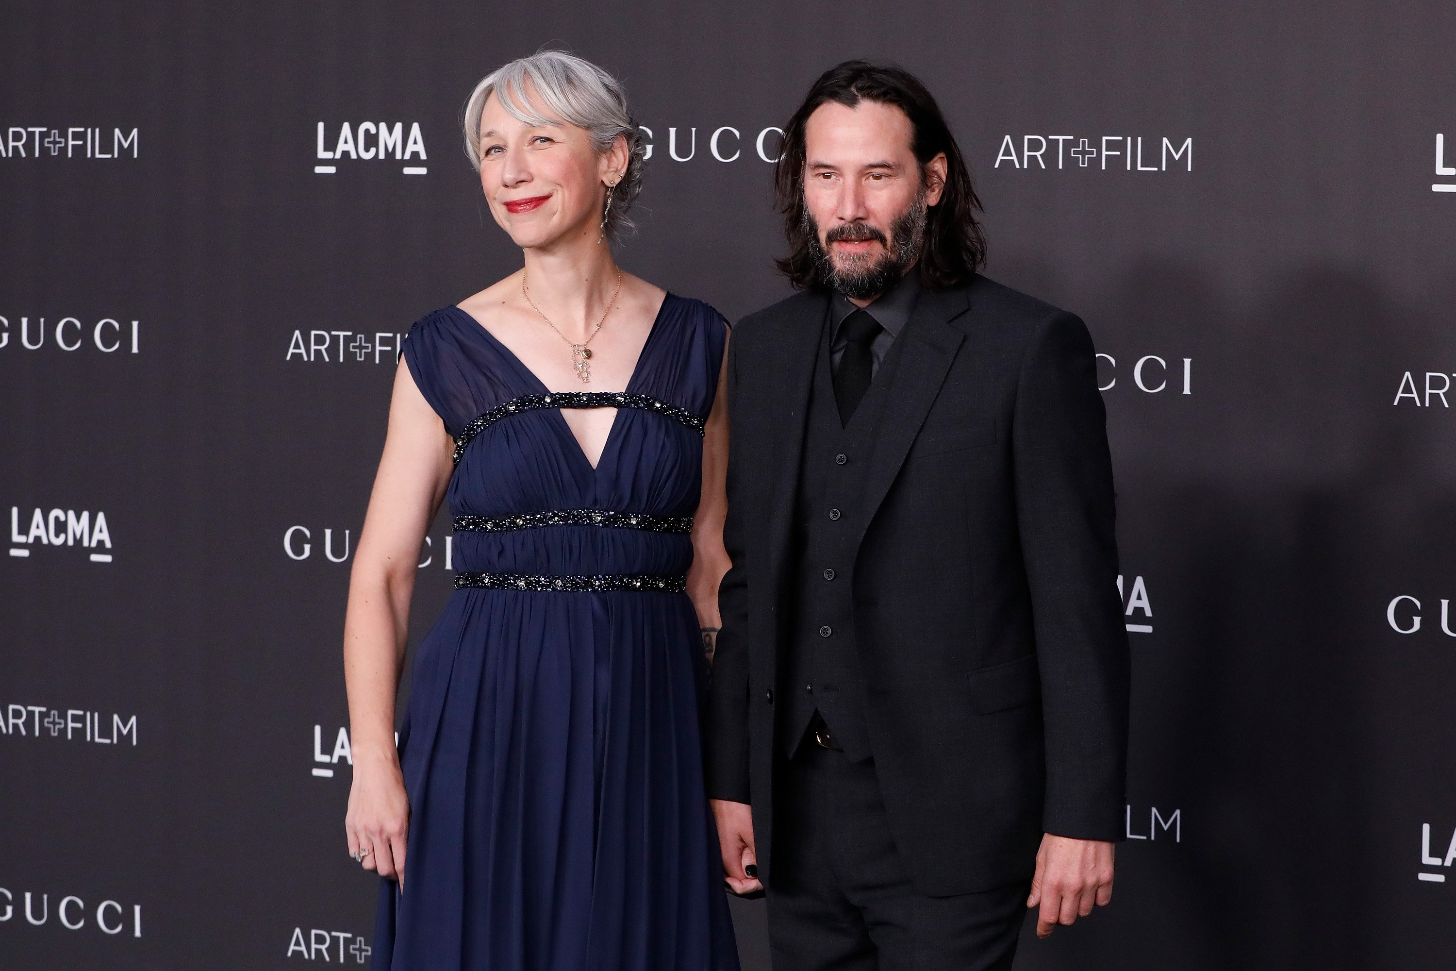
[[[456,440],[457,590],[415,658],[374,968],[738,968],[683,592],[725,342],[668,294],[625,393],[552,393],[459,307],[411,329]],[[617,408],[596,469],[558,411],[585,406]]]

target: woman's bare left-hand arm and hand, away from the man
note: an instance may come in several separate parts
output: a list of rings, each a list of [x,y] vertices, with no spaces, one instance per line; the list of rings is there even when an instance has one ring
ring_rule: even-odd
[[[364,866],[400,879],[400,888],[409,804],[395,751],[395,693],[419,546],[450,483],[450,451],[444,424],[400,361],[344,620],[344,681],[354,754],[345,818],[349,853],[368,850]]]

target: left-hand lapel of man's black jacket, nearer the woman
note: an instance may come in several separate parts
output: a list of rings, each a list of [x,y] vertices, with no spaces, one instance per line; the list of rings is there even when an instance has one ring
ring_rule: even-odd
[[[792,562],[789,543],[804,435],[808,428],[810,392],[814,386],[814,364],[824,333],[824,317],[828,313],[826,294],[805,294],[805,297],[802,312],[785,326],[780,344],[783,371],[778,383],[780,397],[773,403],[778,434],[773,445],[776,467],[772,472],[769,512],[769,579],[775,597],[782,590],[783,571]]]

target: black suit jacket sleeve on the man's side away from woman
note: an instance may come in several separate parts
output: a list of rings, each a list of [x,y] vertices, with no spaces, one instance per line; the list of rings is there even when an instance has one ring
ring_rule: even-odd
[[[1092,336],[1072,314],[1044,320],[1026,348],[1012,450],[1045,724],[1042,828],[1118,840],[1130,661],[1112,461]]]

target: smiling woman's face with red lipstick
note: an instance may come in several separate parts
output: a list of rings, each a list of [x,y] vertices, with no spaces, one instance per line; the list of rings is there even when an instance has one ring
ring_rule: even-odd
[[[531,105],[549,116],[537,103]],[[584,128],[531,125],[492,92],[480,112],[480,188],[517,246],[550,247],[572,234],[597,239],[607,182],[626,169],[626,141],[597,154]]]

